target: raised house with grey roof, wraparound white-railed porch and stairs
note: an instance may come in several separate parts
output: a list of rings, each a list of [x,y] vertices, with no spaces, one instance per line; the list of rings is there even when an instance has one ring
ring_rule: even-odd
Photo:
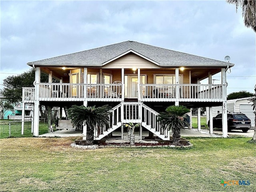
[[[123,124],[128,122],[140,122],[139,138],[142,138],[142,130],[148,130],[151,135],[169,140],[170,133],[160,127],[157,115],[170,105],[209,106],[210,109],[222,106],[225,118],[226,70],[234,66],[135,41],[29,62],[28,65],[36,70],[35,87],[23,88],[22,101],[23,105],[34,105],[34,136],[38,136],[39,105],[67,111],[74,104],[108,104],[112,106],[110,128],[95,128],[95,140],[117,129],[124,138]],[[212,84],[212,75],[219,72],[221,84]],[[40,82],[41,73],[49,75],[48,83]],[[59,83],[52,83],[52,78]],[[200,84],[200,80],[206,78],[209,84]],[[225,122],[224,137],[227,136]]]

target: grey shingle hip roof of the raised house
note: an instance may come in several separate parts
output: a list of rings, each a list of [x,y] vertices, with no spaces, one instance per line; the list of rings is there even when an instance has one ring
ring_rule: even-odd
[[[100,48],[94,48],[82,52],[57,56],[35,62],[29,62],[32,66],[102,66],[104,63],[116,58],[129,50],[148,58],[159,66],[234,66],[234,64],[200,57],[192,54],[177,52],[156,46],[151,46],[135,41],[125,41]]]

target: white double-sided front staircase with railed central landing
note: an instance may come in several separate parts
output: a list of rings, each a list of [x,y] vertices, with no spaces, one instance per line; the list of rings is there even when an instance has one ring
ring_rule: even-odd
[[[162,140],[170,140],[170,132],[157,121],[158,113],[141,102],[122,102],[110,110],[109,128],[94,128],[94,140],[100,140],[122,126],[122,123],[140,123]]]

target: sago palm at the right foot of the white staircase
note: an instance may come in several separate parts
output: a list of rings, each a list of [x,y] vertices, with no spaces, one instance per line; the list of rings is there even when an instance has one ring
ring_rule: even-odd
[[[169,106],[158,115],[158,121],[163,127],[167,127],[168,130],[172,130],[172,139],[175,146],[180,145],[180,130],[187,124],[184,120],[184,115],[190,110],[185,106]]]

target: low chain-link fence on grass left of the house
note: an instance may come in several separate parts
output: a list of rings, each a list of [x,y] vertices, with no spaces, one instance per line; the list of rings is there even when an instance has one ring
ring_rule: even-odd
[[[9,137],[32,137],[33,133],[31,132],[32,121],[24,122],[24,133],[21,134],[21,123],[20,120],[0,120],[0,138],[9,138]],[[44,134],[48,132],[47,121],[42,119],[39,123],[39,134]]]

